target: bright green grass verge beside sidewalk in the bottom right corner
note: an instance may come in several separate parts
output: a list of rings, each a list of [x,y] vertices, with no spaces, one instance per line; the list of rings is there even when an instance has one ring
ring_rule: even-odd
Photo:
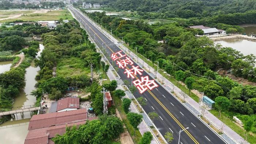
[[[219,112],[217,110],[210,110],[210,112],[217,118],[219,118]],[[239,127],[238,125],[236,125],[231,118],[229,118],[230,116],[224,112],[221,113],[221,118],[219,118],[219,120],[221,120],[224,124],[226,124],[227,126],[229,126],[229,128],[231,128],[232,130],[234,130],[237,134],[239,134],[241,137],[243,137],[245,139],[245,130],[242,129],[241,127]],[[256,144],[256,134],[247,134],[247,141],[251,144]]]

